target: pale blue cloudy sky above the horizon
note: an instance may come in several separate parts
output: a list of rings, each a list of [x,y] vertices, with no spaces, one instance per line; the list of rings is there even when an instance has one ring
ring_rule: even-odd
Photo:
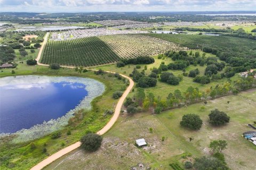
[[[256,11],[256,0],[0,0],[0,11]]]

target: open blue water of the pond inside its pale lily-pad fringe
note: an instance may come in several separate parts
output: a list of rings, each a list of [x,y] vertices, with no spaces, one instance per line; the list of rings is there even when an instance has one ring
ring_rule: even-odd
[[[0,133],[13,133],[65,115],[88,92],[85,84],[22,82],[0,87]]]

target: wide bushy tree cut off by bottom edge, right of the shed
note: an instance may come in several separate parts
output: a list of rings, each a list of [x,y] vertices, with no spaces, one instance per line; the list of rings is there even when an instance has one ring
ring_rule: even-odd
[[[194,167],[196,170],[229,170],[229,168],[219,159],[205,156],[201,158],[196,158]]]

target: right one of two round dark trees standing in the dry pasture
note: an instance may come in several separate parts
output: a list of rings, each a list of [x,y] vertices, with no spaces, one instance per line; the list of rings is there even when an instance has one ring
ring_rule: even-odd
[[[211,111],[209,114],[210,123],[212,125],[223,125],[229,122],[230,117],[225,113],[221,112],[218,109]]]

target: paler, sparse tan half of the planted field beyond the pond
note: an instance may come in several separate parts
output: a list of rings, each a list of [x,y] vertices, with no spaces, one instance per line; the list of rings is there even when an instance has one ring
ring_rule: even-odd
[[[177,44],[142,35],[111,35],[99,37],[110,46],[121,58],[151,56],[164,53],[167,50],[186,50]]]

